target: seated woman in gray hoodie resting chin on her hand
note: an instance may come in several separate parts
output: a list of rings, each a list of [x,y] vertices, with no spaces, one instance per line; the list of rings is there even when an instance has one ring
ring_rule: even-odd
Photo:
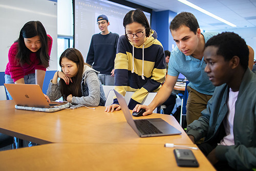
[[[97,76],[99,72],[84,65],[82,54],[77,49],[65,50],[59,65],[61,71],[54,74],[47,90],[50,100],[63,97],[63,100],[73,104],[104,106],[106,99]]]

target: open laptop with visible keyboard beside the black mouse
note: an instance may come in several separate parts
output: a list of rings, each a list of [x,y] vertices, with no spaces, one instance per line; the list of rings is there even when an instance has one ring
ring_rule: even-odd
[[[132,126],[139,137],[156,137],[181,134],[179,130],[161,118],[133,119],[124,97],[115,91],[126,121]]]

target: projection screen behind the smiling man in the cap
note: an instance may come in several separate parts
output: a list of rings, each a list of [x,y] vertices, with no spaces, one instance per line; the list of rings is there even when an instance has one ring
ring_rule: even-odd
[[[124,6],[107,0],[75,0],[75,48],[78,49],[86,61],[93,34],[100,33],[97,17],[105,14],[110,22],[108,30],[117,33],[119,36],[124,34],[123,18],[125,14],[135,8]],[[151,13],[144,12],[148,22]]]

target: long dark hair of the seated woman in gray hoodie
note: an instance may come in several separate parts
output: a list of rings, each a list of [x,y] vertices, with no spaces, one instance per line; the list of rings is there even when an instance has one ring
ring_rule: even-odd
[[[72,94],[72,96],[75,96],[75,97],[81,97],[82,96],[81,81],[82,81],[82,74],[83,74],[83,67],[84,67],[84,60],[83,60],[82,54],[80,51],[78,51],[75,48],[66,49],[59,58],[60,67],[61,67],[61,60],[64,57],[76,63],[78,72],[76,76],[71,78],[73,83],[70,82],[69,85],[67,85],[63,79],[60,79],[60,91],[61,91],[62,97],[65,100],[67,100],[67,97],[70,94]]]

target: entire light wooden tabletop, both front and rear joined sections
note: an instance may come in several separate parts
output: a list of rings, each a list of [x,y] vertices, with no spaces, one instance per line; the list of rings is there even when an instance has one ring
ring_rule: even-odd
[[[104,109],[43,113],[16,110],[13,100],[0,101],[1,133],[44,144],[0,152],[0,170],[214,170],[199,150],[193,152],[200,167],[177,166],[174,148],[164,144],[196,145],[174,117],[143,118],[162,118],[181,135],[139,138],[122,111]]]

